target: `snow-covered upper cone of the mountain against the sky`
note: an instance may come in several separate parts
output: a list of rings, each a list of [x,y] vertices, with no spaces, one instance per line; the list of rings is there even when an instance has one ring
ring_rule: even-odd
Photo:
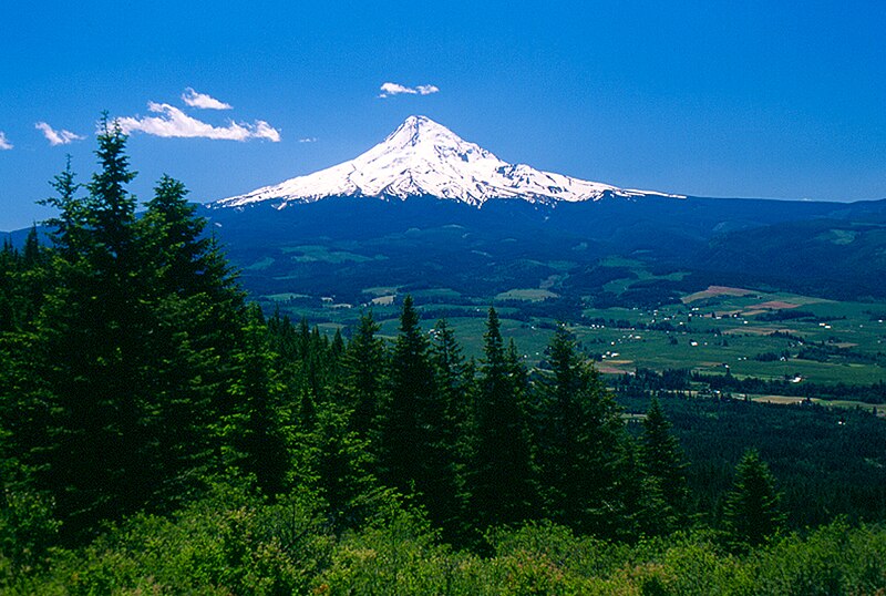
[[[218,201],[216,206],[272,202],[284,207],[330,196],[400,199],[430,196],[480,207],[490,199],[522,198],[550,204],[597,201],[607,194],[682,198],[509,164],[429,117],[409,116],[388,138],[354,160]]]

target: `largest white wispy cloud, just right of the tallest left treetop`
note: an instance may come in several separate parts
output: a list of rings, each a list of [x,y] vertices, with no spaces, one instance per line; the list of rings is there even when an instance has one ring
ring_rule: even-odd
[[[216,138],[228,141],[267,138],[275,143],[280,141],[280,132],[264,120],[257,120],[253,124],[234,122],[231,120],[228,121],[227,126],[213,126],[212,124],[188,116],[178,107],[169,105],[168,103],[148,102],[147,109],[161,115],[144,117],[125,116],[117,119],[121,130],[126,134],[137,131],[154,136],[178,138]]]

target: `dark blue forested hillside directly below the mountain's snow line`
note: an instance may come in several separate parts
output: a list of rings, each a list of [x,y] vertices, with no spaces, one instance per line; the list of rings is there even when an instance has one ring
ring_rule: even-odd
[[[564,270],[576,276],[619,255],[662,271],[697,271],[710,282],[886,296],[886,201],[607,198],[556,206],[491,201],[476,209],[427,197],[338,197],[203,213],[259,294],[349,295],[416,284],[497,294]],[[320,248],[305,255],[306,245]]]

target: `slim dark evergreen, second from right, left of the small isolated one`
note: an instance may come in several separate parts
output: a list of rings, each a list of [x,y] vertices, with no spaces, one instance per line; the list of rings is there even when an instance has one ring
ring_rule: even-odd
[[[643,419],[640,459],[643,474],[653,481],[652,485],[663,501],[664,506],[657,515],[662,533],[681,525],[689,497],[682,451],[670,429],[671,423],[664,417],[661,404],[657,398],[652,398]]]

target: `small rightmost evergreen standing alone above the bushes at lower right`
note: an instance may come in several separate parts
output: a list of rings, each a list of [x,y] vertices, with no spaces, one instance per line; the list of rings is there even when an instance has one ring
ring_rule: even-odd
[[[756,450],[749,449],[735,467],[735,480],[723,511],[733,544],[756,546],[784,523],[775,477]]]

